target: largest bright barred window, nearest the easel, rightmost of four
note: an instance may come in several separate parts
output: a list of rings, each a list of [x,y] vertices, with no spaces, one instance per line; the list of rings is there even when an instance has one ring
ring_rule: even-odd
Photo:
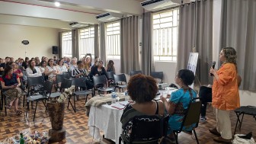
[[[154,60],[177,61],[178,9],[153,14]]]

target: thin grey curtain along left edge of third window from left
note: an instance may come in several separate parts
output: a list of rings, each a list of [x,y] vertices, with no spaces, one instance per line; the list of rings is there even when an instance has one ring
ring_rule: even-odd
[[[101,23],[100,24],[100,32],[101,32],[101,44],[100,44],[100,58],[101,60],[103,60],[103,64],[104,66],[106,66],[106,40],[105,40],[105,37],[106,37],[106,31],[105,31],[105,24],[104,23]],[[95,53],[95,56],[96,53]],[[99,55],[98,55],[99,56]]]

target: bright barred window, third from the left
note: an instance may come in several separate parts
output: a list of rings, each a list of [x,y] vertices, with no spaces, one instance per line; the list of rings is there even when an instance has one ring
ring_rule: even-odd
[[[107,59],[120,59],[120,21],[106,25]]]

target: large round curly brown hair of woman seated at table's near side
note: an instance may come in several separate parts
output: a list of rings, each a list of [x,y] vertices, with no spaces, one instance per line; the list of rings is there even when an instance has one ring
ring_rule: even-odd
[[[137,74],[130,78],[127,85],[128,94],[136,103],[152,101],[158,91],[156,81],[148,75]]]

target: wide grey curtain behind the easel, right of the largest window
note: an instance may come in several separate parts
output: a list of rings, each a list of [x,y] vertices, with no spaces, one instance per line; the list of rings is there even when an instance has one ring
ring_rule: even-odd
[[[209,84],[213,63],[213,1],[182,5],[179,16],[177,69],[187,69],[189,53],[198,52],[196,76],[202,85]],[[197,80],[195,81],[197,82]]]

